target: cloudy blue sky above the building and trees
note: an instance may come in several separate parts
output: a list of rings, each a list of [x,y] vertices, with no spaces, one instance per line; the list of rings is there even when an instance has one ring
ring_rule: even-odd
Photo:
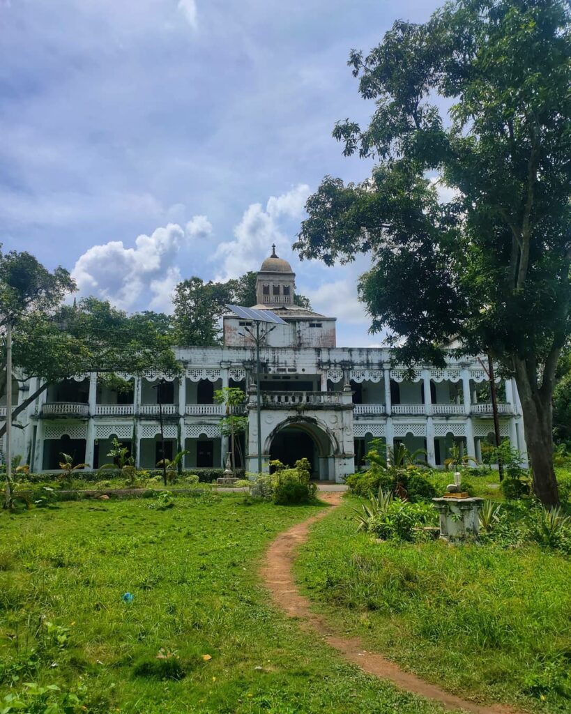
[[[331,138],[364,121],[346,66],[433,0],[0,0],[0,242],[73,271],[81,294],[170,308],[182,278],[256,270],[278,245],[298,291],[367,332],[366,258],[290,249],[325,174],[365,178]]]

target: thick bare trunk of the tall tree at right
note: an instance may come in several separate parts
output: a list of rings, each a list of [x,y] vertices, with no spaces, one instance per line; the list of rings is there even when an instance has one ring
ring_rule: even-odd
[[[552,393],[540,393],[523,369],[516,369],[515,382],[522,403],[533,492],[544,506],[557,506],[559,491],[553,468]]]

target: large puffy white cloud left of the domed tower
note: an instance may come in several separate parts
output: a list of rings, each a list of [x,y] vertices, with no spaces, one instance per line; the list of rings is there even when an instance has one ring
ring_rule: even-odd
[[[124,310],[171,310],[171,293],[181,280],[178,254],[189,236],[177,223],[136,238],[134,248],[123,241],[92,246],[75,264],[72,275],[82,295],[110,300]]]

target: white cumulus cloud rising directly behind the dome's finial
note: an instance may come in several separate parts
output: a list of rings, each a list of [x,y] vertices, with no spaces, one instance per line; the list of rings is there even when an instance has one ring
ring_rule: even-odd
[[[233,241],[219,243],[214,260],[221,261],[218,280],[237,278],[255,269],[268,256],[272,243],[278,255],[287,257],[290,239],[281,228],[281,219],[295,219],[303,215],[303,206],[309,195],[309,186],[301,183],[281,196],[270,196],[263,208],[261,203],[251,203],[234,229]]]

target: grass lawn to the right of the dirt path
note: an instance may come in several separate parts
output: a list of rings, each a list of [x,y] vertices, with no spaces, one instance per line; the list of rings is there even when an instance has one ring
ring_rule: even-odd
[[[571,561],[536,546],[375,543],[348,498],[296,563],[339,631],[455,693],[571,710]]]

